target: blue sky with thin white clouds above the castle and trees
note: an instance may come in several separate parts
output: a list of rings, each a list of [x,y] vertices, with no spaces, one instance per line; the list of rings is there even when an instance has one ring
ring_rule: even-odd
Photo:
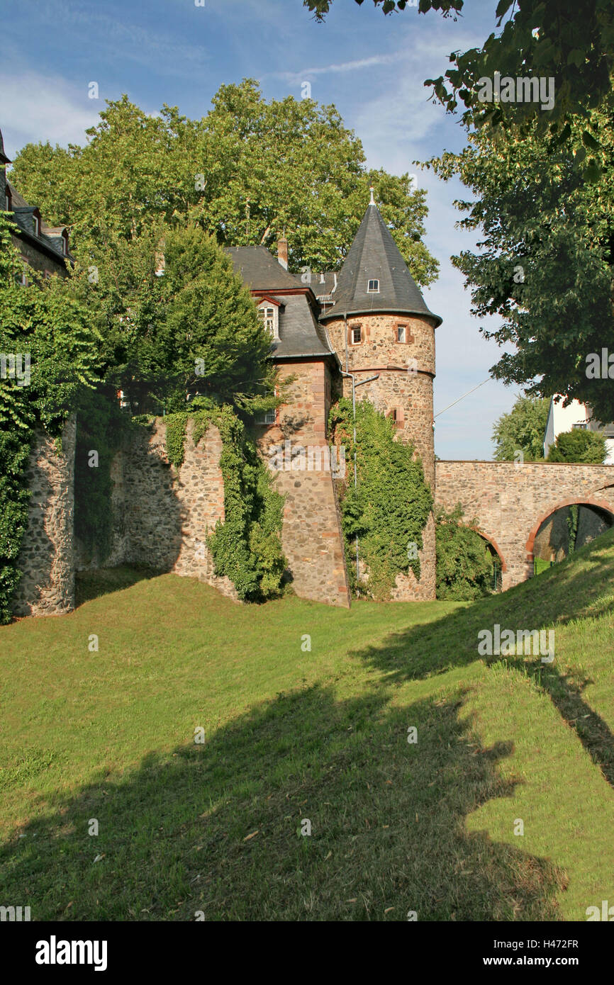
[[[4,0],[0,128],[11,157],[28,141],[83,143],[104,99],[122,93],[148,112],[163,103],[204,115],[223,84],[258,79],[267,99],[334,102],[361,138],[367,164],[417,173],[428,191],[425,241],[441,263],[425,298],[443,316],[437,331],[436,414],[485,380],[500,350],[486,342],[449,256],[471,248],[454,229],[459,182],[444,183],[412,162],[459,150],[457,117],[428,100],[425,78],[445,71],[447,55],[495,30],[495,0],[466,0],[465,16],[444,20],[417,9],[384,17],[371,0],[335,0],[323,25],[302,0]],[[89,99],[91,82],[100,99]],[[291,230],[288,230],[291,235]],[[494,421],[515,390],[489,381],[437,419],[442,458],[492,457]]]

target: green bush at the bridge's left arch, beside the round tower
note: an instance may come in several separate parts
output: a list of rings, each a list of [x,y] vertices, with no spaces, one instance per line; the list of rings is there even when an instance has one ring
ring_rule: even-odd
[[[493,560],[480,535],[472,529],[477,520],[462,522],[460,503],[450,513],[438,508],[435,515],[438,599],[457,602],[491,594]]]

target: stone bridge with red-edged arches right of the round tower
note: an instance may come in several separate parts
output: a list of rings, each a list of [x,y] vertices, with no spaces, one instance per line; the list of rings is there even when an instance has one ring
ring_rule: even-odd
[[[614,521],[614,466],[559,462],[436,462],[436,501],[460,502],[502,562],[502,587],[533,574],[540,526],[563,506],[591,506]]]

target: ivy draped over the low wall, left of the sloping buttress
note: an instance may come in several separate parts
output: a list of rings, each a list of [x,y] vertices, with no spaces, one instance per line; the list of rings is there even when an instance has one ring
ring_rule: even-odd
[[[215,573],[226,575],[239,599],[261,602],[281,594],[287,561],[281,546],[284,497],[273,488],[269,470],[230,405],[197,397],[189,412],[166,417],[167,454],[175,468],[183,462],[188,420],[198,444],[210,425],[222,436],[224,523],[207,539]]]

